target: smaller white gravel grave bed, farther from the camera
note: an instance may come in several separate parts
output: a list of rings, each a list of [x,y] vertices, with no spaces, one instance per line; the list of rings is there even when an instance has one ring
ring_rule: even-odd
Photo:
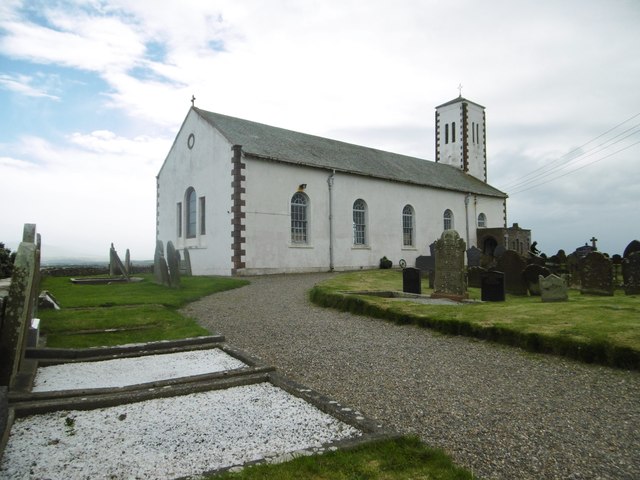
[[[125,387],[246,367],[218,348],[38,368],[34,392]]]

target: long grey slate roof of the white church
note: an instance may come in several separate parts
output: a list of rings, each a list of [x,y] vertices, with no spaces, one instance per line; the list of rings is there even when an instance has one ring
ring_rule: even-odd
[[[232,145],[241,145],[245,155],[465,193],[507,196],[449,165],[192,108]]]

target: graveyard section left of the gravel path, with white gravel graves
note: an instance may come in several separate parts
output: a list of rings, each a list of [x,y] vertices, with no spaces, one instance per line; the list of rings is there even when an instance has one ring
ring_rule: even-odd
[[[220,478],[256,464],[229,475],[265,478],[260,464],[275,463],[271,478],[305,469],[311,478],[319,466],[472,478],[443,452],[288,380],[178,311],[246,280],[41,277],[34,227],[25,226],[2,292],[1,476]]]

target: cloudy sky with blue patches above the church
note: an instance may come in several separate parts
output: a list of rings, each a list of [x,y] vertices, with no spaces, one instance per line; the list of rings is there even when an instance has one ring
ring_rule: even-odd
[[[637,0],[2,0],[0,242],[153,257],[155,176],[196,106],[428,160],[487,110],[489,182],[548,254],[640,238]]]

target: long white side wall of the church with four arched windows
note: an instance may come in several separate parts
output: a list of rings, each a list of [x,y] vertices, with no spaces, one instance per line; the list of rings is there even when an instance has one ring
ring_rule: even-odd
[[[327,271],[330,265],[329,187],[331,172],[264,160],[246,159],[246,269],[241,274]],[[291,243],[291,197],[306,185],[309,198],[309,240]],[[335,270],[377,268],[386,256],[394,265],[404,259],[413,266],[419,255],[428,255],[428,245],[444,228],[443,215],[450,209],[454,228],[469,245],[476,244],[480,204],[492,226],[502,226],[502,199],[470,197],[380,179],[336,173],[333,183],[333,266]],[[353,203],[367,204],[366,245],[353,244]],[[474,203],[475,202],[475,203]],[[414,210],[414,243],[403,245],[402,211]],[[465,219],[468,215],[468,222]],[[498,222],[498,223],[494,223]],[[467,230],[468,226],[468,230]]]

